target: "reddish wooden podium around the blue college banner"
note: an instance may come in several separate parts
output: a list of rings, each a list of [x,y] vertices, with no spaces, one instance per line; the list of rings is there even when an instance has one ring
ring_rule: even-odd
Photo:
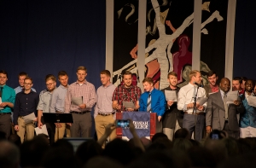
[[[147,113],[147,112],[123,112],[123,113],[116,113],[116,119],[124,119],[123,118],[123,114],[124,113],[132,113],[137,115],[137,113]],[[156,132],[156,119],[157,119],[157,115],[156,113],[149,113],[150,115],[150,119],[149,119],[149,123],[150,123],[150,130],[149,130],[149,136],[150,139],[152,139],[152,137],[154,136],[155,132]],[[134,119],[131,119],[134,121]],[[116,128],[116,136],[118,138],[122,138],[123,137],[123,129],[118,127]]]

